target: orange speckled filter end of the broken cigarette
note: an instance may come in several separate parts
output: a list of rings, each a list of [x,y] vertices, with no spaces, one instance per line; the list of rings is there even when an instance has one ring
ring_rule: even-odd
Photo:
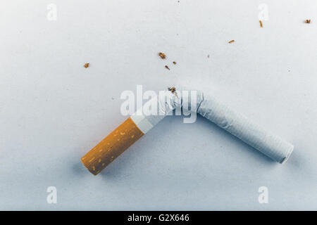
[[[143,135],[144,133],[129,117],[97,144],[97,146],[84,155],[82,163],[87,167],[89,172],[97,175]]]

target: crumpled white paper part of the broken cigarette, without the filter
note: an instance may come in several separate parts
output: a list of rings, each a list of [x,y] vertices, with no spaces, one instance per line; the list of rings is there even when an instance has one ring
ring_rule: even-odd
[[[183,98],[182,92],[194,93],[197,98]],[[195,102],[193,102],[195,101]],[[148,114],[149,108],[157,107],[156,115]],[[175,93],[166,91],[164,96],[156,96],[145,103],[142,108],[131,116],[137,127],[146,134],[152,127],[160,122],[163,117],[173,110],[182,110],[184,105],[189,105],[194,113],[199,113],[206,119],[237,136],[253,148],[261,151],[273,160],[283,163],[290,157],[294,146],[275,134],[266,131],[258,124],[251,122],[244,115],[236,113],[227,105],[219,103],[216,98],[205,95],[202,91],[190,91],[176,86]]]

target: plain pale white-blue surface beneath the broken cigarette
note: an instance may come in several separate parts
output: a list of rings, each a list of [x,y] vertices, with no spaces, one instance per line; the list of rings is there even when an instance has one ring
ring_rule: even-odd
[[[316,11],[313,0],[1,3],[0,210],[316,210]],[[121,92],[175,83],[212,90],[296,150],[279,165],[203,117],[166,117],[92,176],[80,158],[127,118]]]

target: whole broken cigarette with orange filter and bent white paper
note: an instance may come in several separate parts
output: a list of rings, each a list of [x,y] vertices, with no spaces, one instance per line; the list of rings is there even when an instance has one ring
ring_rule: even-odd
[[[206,119],[237,136],[245,143],[261,151],[273,160],[283,163],[290,157],[294,146],[271,132],[266,131],[258,124],[251,122],[244,115],[236,113],[227,105],[219,103],[216,98],[204,95],[202,91],[193,91],[177,87],[175,93],[165,91],[163,95],[156,96],[147,101],[125,122],[120,124],[111,134],[97,144],[84,157],[82,163],[89,172],[97,175],[128,149],[135,141],[163,120],[166,115],[173,114],[173,110],[185,110],[187,105],[191,112],[199,113]],[[180,95],[188,91],[195,98],[184,98]],[[156,115],[149,113],[149,108],[156,107]]]

